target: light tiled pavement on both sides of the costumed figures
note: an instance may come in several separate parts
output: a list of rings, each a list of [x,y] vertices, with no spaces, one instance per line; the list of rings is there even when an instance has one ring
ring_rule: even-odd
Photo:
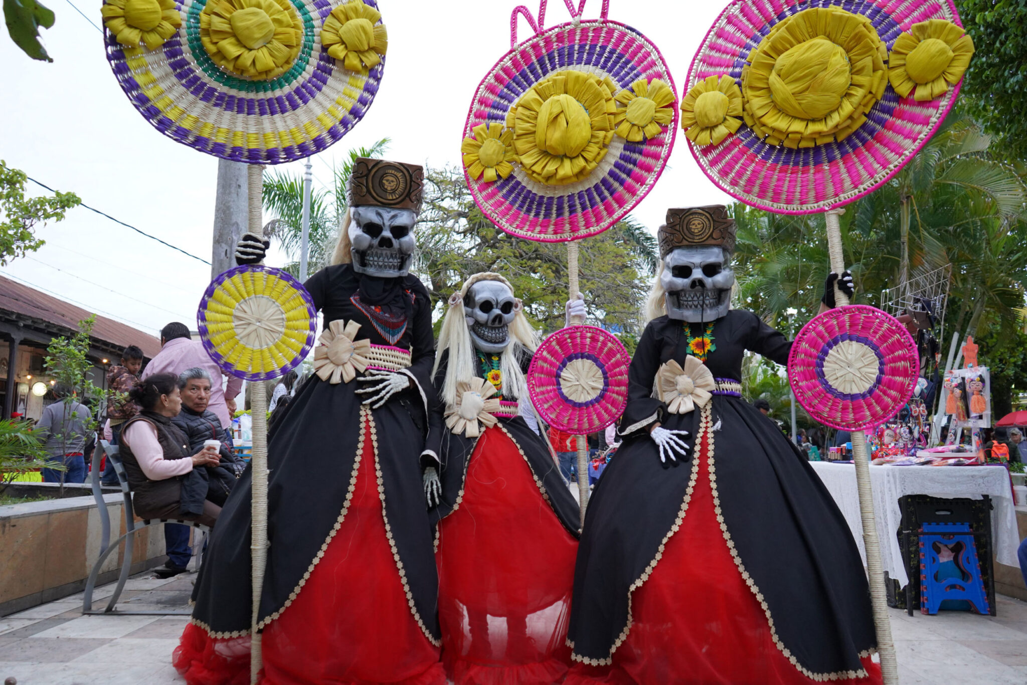
[[[128,580],[119,608],[184,609],[195,574]],[[106,605],[112,585],[94,593]],[[890,610],[903,685],[1027,683],[1027,603],[998,597],[998,616]],[[168,685],[184,616],[83,616],[72,596],[0,618],[0,679],[17,685]]]

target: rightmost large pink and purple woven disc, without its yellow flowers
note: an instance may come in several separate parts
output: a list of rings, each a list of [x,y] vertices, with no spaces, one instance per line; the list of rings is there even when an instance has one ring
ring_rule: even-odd
[[[747,58],[771,28],[804,9],[829,6],[869,17],[888,49],[914,24],[959,24],[952,0],[734,0],[696,52],[685,92],[709,76],[740,81]],[[689,147],[710,180],[746,204],[776,214],[824,212],[898,174],[941,125],[958,92],[957,83],[937,100],[916,102],[888,85],[854,132],[811,148],[767,145],[746,124],[719,144]]]

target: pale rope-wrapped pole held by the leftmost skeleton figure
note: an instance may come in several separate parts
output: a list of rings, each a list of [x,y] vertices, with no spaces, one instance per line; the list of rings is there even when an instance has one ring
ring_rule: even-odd
[[[264,191],[264,167],[249,165],[250,232],[262,235],[261,216]],[[267,388],[263,381],[253,381],[250,388],[250,414],[253,419],[253,501],[251,503],[250,555],[253,560],[253,608],[251,613],[250,682],[256,685],[262,658],[260,633],[260,598],[264,587],[264,568],[267,565]]]

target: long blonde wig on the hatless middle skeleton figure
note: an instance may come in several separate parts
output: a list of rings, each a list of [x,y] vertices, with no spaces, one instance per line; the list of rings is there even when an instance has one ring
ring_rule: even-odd
[[[456,386],[460,381],[469,381],[476,377],[474,367],[478,364],[478,356],[474,354],[474,345],[470,339],[470,331],[467,328],[467,320],[463,313],[463,299],[467,295],[470,287],[483,280],[496,280],[514,292],[514,286],[498,273],[485,271],[476,273],[464,281],[459,292],[450,296],[446,310],[446,319],[443,321],[442,331],[439,333],[439,349],[435,353],[435,366],[431,370],[434,375],[439,371],[439,363],[442,359],[443,350],[449,350],[449,363],[446,368],[446,381],[443,383],[442,399],[447,407],[456,405]],[[524,307],[521,300],[515,300],[514,320],[509,325],[509,344],[500,355],[500,371],[503,375],[501,392],[503,395],[519,399],[528,394],[524,372],[521,371],[521,350],[534,352],[538,347],[538,334],[531,328],[527,317],[524,315]]]

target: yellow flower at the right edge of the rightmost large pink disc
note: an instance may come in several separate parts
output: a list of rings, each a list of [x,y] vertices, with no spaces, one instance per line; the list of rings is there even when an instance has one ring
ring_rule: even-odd
[[[920,22],[896,39],[888,54],[888,80],[903,98],[916,88],[913,100],[923,102],[945,94],[962,78],[974,55],[974,40],[962,27],[945,20]]]

